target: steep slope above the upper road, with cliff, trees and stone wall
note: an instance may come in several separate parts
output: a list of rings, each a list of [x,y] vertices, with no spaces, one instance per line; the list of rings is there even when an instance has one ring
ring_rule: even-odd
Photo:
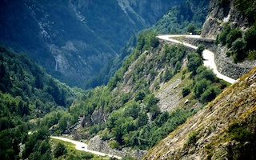
[[[237,79],[256,66],[253,45],[256,14],[252,10],[255,10],[255,1],[210,1],[210,13],[201,35],[203,38],[216,38],[217,68],[230,78]]]

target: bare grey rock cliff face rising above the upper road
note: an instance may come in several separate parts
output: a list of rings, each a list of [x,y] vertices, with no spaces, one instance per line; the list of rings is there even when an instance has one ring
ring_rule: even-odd
[[[248,19],[235,9],[234,0],[225,6],[220,5],[218,0],[211,0],[210,14],[202,26],[202,37],[216,38],[226,22],[230,22],[231,27],[239,27],[241,30],[246,30],[249,26]]]

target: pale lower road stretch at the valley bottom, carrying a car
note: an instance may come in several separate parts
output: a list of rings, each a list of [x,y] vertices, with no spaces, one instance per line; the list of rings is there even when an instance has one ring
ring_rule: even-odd
[[[97,154],[97,155],[101,155],[101,156],[108,156],[110,158],[113,158],[113,157],[118,158],[118,159],[122,158],[122,157],[118,157],[118,156],[112,155],[112,154],[105,154],[105,153],[94,151],[94,150],[88,150],[86,143],[74,141],[74,140],[71,140],[69,138],[62,138],[62,137],[55,137],[55,136],[50,136],[50,138],[59,139],[59,140],[65,141],[65,142],[71,142],[75,145],[76,150],[83,150],[83,151],[86,151],[86,152],[90,152],[91,154]]]

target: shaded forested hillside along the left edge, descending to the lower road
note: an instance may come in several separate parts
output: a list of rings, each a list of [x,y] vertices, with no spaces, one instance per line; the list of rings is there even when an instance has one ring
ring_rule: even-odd
[[[50,159],[49,126],[58,122],[79,90],[58,82],[26,54],[0,46],[0,156],[3,159]],[[36,124],[59,110],[55,122]],[[28,136],[29,130],[37,131]],[[25,144],[25,146],[24,146]]]

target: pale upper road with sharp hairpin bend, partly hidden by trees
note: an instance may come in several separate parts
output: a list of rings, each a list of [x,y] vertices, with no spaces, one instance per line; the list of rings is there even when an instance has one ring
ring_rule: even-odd
[[[200,35],[184,35],[184,34],[180,34],[180,35],[176,35],[176,34],[168,34],[168,35],[158,35],[159,39],[165,40],[165,41],[169,41],[169,42],[175,42],[178,44],[182,44],[186,47],[192,48],[194,50],[198,49],[198,46],[193,46],[189,43],[186,42],[180,42],[174,38],[177,37],[186,37],[186,38],[201,38]],[[216,74],[216,76],[220,79],[223,79],[226,82],[230,82],[231,84],[233,84],[234,82],[236,82],[236,80],[234,80],[233,78],[229,78],[226,75],[223,75],[221,73],[218,72],[217,70],[217,66],[216,63],[214,61],[214,53],[211,52],[210,50],[203,50],[202,52],[202,58],[203,60],[203,64],[204,66],[212,69],[214,71],[214,74]]]

